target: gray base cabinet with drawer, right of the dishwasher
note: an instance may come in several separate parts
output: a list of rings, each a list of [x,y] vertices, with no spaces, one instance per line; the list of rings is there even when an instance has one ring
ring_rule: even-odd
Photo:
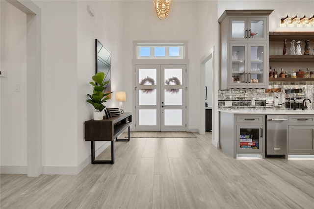
[[[288,154],[314,154],[314,116],[288,116]]]

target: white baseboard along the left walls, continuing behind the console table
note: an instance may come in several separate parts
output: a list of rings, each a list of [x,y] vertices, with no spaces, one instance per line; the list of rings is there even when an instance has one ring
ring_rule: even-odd
[[[95,151],[95,157],[99,156],[108,146],[111,145],[111,141],[106,141],[101,147]],[[81,172],[89,163],[91,163],[91,156],[85,158],[78,166],[42,166],[42,174],[45,175],[77,175]],[[27,165],[15,166],[15,165],[1,165],[1,174],[27,174]]]

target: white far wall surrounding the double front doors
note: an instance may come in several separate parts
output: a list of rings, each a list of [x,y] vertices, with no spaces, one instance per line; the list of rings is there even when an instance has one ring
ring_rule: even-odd
[[[159,20],[153,1],[124,1],[124,85],[127,95],[134,95],[132,78],[133,41],[188,41],[188,109],[187,129],[198,130],[199,70],[201,57],[198,25],[200,1],[172,1],[168,17]],[[140,11],[140,12],[135,12]],[[131,79],[132,78],[132,79]],[[130,97],[129,97],[130,98]],[[132,110],[132,100],[127,99],[125,109]]]

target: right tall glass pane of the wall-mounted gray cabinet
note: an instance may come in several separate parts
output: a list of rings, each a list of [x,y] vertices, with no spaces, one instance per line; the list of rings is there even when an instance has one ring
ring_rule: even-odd
[[[263,46],[251,46],[251,83],[263,82]]]

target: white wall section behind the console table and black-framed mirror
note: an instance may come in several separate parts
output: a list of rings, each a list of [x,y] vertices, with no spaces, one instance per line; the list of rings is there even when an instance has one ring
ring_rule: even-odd
[[[87,12],[87,5],[95,11],[92,17]],[[122,68],[122,15],[121,1],[78,1],[78,164],[88,159],[90,162],[90,142],[84,140],[84,121],[92,118],[94,108],[85,102],[86,94],[92,93],[89,84],[95,74],[95,39],[98,39],[111,52],[111,94],[112,99],[104,103],[106,107],[118,107],[115,92],[124,90]],[[110,143],[96,142],[95,149],[104,149]],[[109,159],[104,159],[109,160]],[[85,162],[86,163],[86,162]],[[81,165],[84,166],[84,163]]]

